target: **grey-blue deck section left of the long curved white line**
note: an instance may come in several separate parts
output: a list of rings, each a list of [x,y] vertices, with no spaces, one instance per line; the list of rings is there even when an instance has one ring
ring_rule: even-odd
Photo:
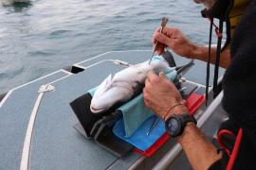
[[[18,169],[27,123],[38,96],[38,89],[55,79],[66,76],[58,72],[14,90],[0,108],[0,169]]]

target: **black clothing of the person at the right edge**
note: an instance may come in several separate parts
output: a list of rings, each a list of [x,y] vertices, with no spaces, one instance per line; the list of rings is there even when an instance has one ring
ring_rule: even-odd
[[[243,130],[232,169],[256,169],[256,0],[251,0],[236,28],[230,55],[223,79],[223,108],[229,113],[229,121],[221,129],[228,128],[235,134],[240,127]],[[235,138],[231,141],[233,148]],[[210,169],[226,169],[228,163],[224,151],[223,158]]]

